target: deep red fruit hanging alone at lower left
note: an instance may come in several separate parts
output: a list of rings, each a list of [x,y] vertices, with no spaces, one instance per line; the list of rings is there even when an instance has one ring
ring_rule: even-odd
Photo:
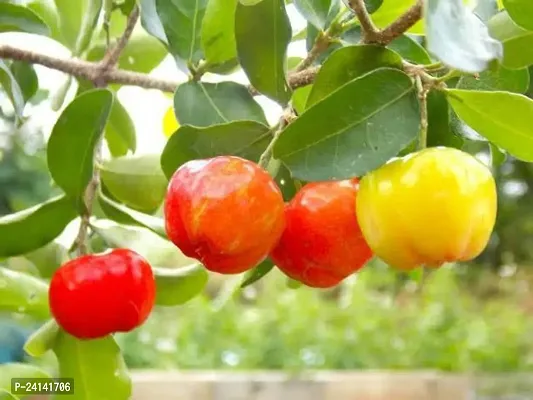
[[[96,339],[142,325],[155,294],[150,264],[134,251],[114,249],[63,264],[52,277],[48,297],[63,330]]]

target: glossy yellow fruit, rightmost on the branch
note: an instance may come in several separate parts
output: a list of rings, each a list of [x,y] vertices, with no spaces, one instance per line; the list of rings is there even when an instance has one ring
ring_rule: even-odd
[[[490,170],[463,151],[432,147],[361,180],[357,216],[376,254],[411,270],[468,261],[486,247],[497,212]]]

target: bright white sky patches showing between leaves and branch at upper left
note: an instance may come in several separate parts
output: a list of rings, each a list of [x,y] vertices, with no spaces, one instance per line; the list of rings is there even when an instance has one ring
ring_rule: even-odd
[[[299,32],[306,26],[303,17],[295,10],[292,4],[287,6],[287,12],[293,25],[293,32]],[[54,40],[42,36],[20,34],[20,33],[3,33],[0,34],[0,44],[9,44],[22,49],[43,52],[48,55],[68,58],[70,52],[61,44]],[[289,56],[304,56],[306,53],[305,41],[291,43],[289,47]],[[53,94],[61,85],[66,75],[50,70],[45,67],[36,66],[39,75],[41,88],[48,89]],[[185,81],[187,77],[176,68],[172,58],[167,57],[163,63],[158,66],[151,75],[159,78],[168,78],[173,81]],[[220,80],[234,80],[246,84],[248,80],[242,71],[229,76],[217,76],[206,74],[205,81],[217,82]],[[71,87],[69,97],[65,105],[68,104],[75,94],[75,87]],[[162,119],[166,110],[172,105],[172,98],[157,90],[145,90],[136,87],[123,87],[118,92],[118,97],[126,109],[130,112],[137,129],[137,154],[159,153],[163,148],[166,138],[163,135]],[[266,99],[264,96],[256,97],[256,100],[263,106],[267,119],[274,123],[280,116],[280,107]],[[25,113],[31,116],[27,129],[32,129],[33,124],[45,124],[49,133],[55,123],[58,115],[53,113],[48,102],[38,107],[27,107]],[[75,133],[73,133],[75,134]]]

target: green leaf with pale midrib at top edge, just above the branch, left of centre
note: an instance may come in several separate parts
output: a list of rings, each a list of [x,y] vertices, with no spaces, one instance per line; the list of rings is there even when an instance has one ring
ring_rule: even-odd
[[[155,0],[155,5],[169,51],[187,62],[200,61],[204,56],[201,32],[207,0]]]

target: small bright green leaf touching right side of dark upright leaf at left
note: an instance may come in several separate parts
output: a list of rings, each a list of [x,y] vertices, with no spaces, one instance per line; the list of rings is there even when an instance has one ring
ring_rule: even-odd
[[[105,138],[113,157],[125,156],[129,150],[135,153],[137,148],[135,124],[116,95],[105,128]]]

